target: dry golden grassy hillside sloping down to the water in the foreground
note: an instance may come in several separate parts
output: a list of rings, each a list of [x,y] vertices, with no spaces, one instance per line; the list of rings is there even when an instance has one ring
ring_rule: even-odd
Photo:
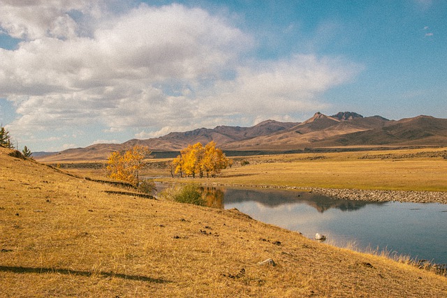
[[[7,152],[2,297],[447,297],[445,277],[409,265],[237,211],[110,195]],[[267,258],[277,266],[257,265]]]

